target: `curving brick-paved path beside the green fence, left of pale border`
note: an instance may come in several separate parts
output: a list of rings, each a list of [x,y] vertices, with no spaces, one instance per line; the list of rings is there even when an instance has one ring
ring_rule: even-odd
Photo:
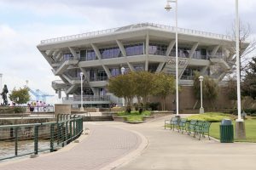
[[[86,123],[90,135],[73,149],[1,165],[0,170],[96,170],[136,150],[142,139],[123,129]]]

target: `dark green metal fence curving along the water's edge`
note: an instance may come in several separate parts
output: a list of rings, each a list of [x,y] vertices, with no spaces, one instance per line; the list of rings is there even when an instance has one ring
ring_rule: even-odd
[[[64,147],[83,132],[83,117],[60,114],[57,122],[0,126],[0,161]]]

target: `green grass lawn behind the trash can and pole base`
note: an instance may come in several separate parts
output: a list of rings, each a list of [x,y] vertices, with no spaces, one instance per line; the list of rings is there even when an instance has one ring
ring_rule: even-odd
[[[212,122],[210,128],[210,135],[216,139],[219,139],[219,124],[220,122]],[[236,129],[236,122],[233,121],[234,130]],[[248,118],[245,121],[246,126],[246,136],[247,139],[235,139],[236,142],[256,142],[256,119]],[[234,132],[235,134],[235,132]]]

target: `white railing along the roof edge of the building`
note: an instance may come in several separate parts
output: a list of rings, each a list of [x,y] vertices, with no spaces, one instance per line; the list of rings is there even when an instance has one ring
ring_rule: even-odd
[[[87,33],[83,33],[83,34],[76,34],[76,35],[72,35],[72,36],[50,38],[50,39],[42,40],[41,44],[62,42],[62,41],[68,41],[68,40],[76,40],[76,39],[80,39],[80,38],[84,38],[84,37],[95,37],[95,36],[102,35],[102,34],[112,33],[114,31],[127,31],[130,29],[138,29],[138,28],[143,28],[143,27],[156,27],[156,28],[161,28],[161,29],[175,32],[174,26],[166,26],[166,25],[160,25],[160,24],[146,22],[146,23],[141,23],[141,24],[136,24],[136,25],[131,25],[131,26],[111,28],[111,29],[102,30],[102,31],[91,31],[91,32],[87,32]],[[178,33],[183,33],[183,34],[190,34],[190,35],[196,35],[196,36],[202,36],[202,37],[214,37],[214,38],[224,39],[224,40],[232,40],[232,38],[230,36],[226,36],[226,35],[222,35],[222,34],[215,34],[215,33],[206,32],[206,31],[197,31],[197,30],[191,30],[191,29],[185,29],[185,28],[177,28],[177,31],[178,31]]]

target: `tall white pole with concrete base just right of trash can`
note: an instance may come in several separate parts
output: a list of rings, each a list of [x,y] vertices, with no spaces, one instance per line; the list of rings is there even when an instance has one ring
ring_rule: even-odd
[[[239,14],[238,0],[236,0],[236,77],[237,77],[237,119],[236,139],[245,139],[245,124],[241,118],[241,89],[240,89],[240,55],[239,55]]]

